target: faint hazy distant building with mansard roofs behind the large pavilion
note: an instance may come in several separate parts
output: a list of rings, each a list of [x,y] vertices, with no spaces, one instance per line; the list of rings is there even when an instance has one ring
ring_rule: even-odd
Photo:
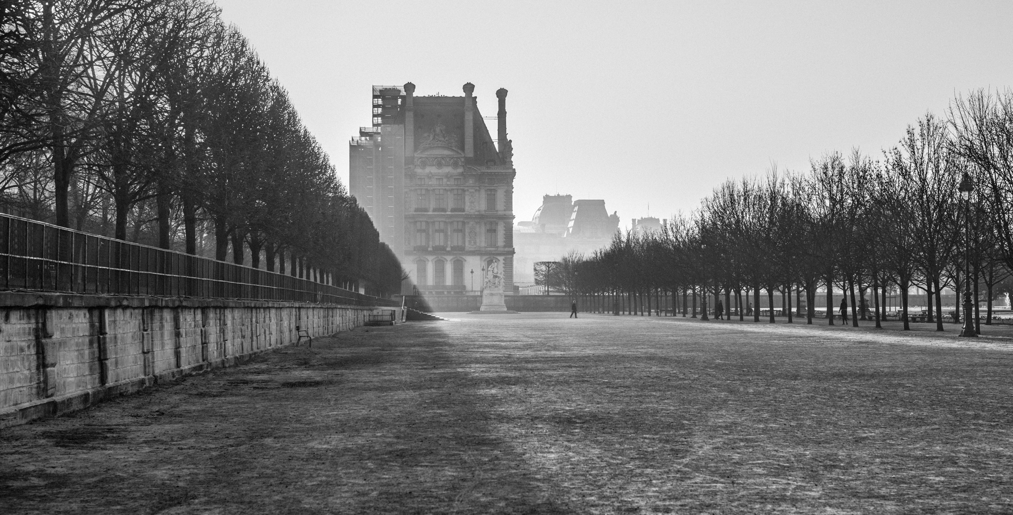
[[[619,230],[619,216],[609,214],[605,200],[573,200],[571,195],[545,195],[531,222],[514,229],[515,280],[535,281],[535,263],[559,261],[569,252],[591,254],[609,245]]]

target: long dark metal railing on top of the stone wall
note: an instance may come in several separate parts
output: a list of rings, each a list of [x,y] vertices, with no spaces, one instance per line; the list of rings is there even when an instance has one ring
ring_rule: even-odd
[[[0,290],[396,305],[310,279],[2,213]]]

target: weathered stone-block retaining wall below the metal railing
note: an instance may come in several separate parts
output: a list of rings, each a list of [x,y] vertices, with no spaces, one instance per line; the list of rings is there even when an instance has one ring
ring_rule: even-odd
[[[0,427],[363,325],[370,308],[0,292]],[[304,337],[305,340],[305,337]]]

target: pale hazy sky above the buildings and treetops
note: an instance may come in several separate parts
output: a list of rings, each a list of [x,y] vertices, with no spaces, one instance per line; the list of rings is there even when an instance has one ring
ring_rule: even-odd
[[[1013,2],[218,0],[347,184],[371,86],[510,90],[516,221],[546,193],[623,226],[726,178],[853,147],[881,156],[954,94],[1013,86]],[[486,120],[495,134],[495,121]],[[494,136],[493,136],[494,137]]]

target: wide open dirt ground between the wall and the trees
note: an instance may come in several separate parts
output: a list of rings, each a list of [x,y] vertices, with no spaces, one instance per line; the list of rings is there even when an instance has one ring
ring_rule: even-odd
[[[0,513],[1013,512],[1009,328],[449,317],[2,430]]]

